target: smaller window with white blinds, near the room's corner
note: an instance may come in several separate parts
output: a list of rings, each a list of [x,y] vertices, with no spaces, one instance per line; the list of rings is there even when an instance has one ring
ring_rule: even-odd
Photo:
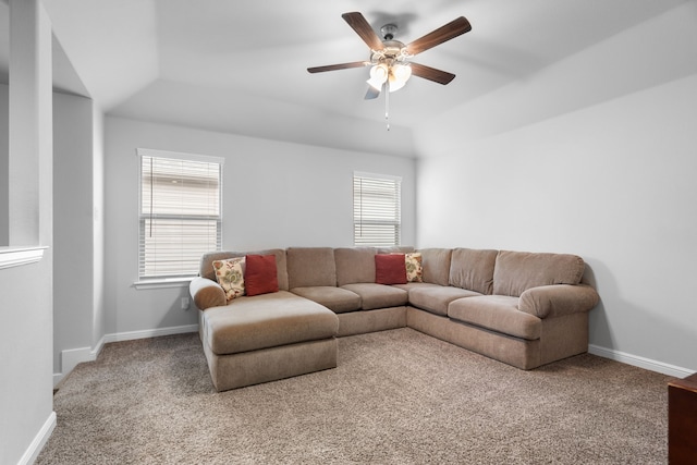
[[[401,186],[401,178],[354,173],[354,245],[400,245],[402,232]]]

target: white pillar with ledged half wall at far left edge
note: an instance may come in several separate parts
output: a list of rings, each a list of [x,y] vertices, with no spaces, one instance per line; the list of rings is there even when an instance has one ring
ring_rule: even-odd
[[[30,37],[20,47],[12,48],[13,57],[19,59],[12,61],[11,81],[22,81],[22,85],[13,85],[10,89],[9,171],[13,179],[9,185],[22,186],[19,189],[22,195],[17,195],[16,189],[10,193],[9,242],[13,246],[47,248],[38,262],[0,269],[2,464],[30,463],[56,426],[51,395],[53,160],[50,22],[38,1],[12,1],[11,9],[13,26],[16,26],[13,32],[19,29],[21,33],[13,34],[11,42],[16,45],[14,39],[26,37],[25,33]],[[25,66],[27,62],[34,68]],[[7,91],[7,87],[2,87],[0,91]],[[12,163],[35,169],[14,169]],[[8,178],[9,174],[5,171],[0,176]],[[19,218],[13,215],[22,210],[30,212],[29,221],[25,222],[25,215]],[[16,228],[16,222],[24,224]],[[25,228],[27,225],[30,228]]]

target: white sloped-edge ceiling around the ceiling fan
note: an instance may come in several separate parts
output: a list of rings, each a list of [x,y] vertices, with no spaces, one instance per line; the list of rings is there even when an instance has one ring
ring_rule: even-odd
[[[684,1],[45,3],[84,89],[109,114],[413,156],[411,134],[429,118],[525,79]],[[368,69],[306,71],[368,58],[367,46],[341,17],[348,11],[360,11],[376,32],[395,23],[395,38],[405,44],[461,15],[473,26],[472,32],[417,56],[414,61],[457,77],[447,86],[412,77],[390,96],[392,130],[387,135],[384,99],[363,99]],[[7,29],[7,14],[0,28]],[[3,40],[0,56],[7,56],[7,48]],[[82,84],[62,87],[80,94]]]

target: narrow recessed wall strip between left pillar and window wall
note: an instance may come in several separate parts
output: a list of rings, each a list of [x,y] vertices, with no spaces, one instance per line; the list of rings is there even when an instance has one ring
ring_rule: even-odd
[[[63,351],[95,347],[93,102],[54,93],[53,115],[53,374],[66,374]]]

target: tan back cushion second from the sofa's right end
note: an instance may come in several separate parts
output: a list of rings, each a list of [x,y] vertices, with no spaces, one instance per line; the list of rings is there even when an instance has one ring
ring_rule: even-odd
[[[499,250],[454,248],[450,261],[450,285],[490,295]]]

